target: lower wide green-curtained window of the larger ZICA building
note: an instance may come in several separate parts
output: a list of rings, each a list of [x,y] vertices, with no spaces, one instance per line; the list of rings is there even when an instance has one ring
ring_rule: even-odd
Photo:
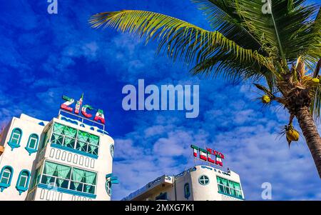
[[[96,180],[96,172],[46,161],[40,184],[95,194]]]

